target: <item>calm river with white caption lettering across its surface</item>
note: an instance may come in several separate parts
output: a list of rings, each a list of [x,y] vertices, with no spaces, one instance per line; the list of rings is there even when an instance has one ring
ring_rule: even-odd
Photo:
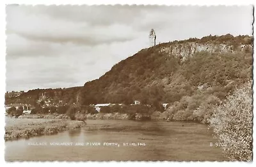
[[[6,141],[6,161],[228,161],[207,125],[88,120],[86,127]]]

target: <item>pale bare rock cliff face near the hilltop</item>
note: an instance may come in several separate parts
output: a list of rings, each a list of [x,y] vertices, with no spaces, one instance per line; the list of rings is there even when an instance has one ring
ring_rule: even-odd
[[[182,56],[182,61],[186,60],[196,52],[207,51],[210,53],[227,53],[244,51],[245,49],[252,50],[252,45],[227,45],[227,44],[200,44],[197,42],[186,42],[184,44],[171,44],[168,47],[161,47],[159,53],[167,54],[168,56]]]

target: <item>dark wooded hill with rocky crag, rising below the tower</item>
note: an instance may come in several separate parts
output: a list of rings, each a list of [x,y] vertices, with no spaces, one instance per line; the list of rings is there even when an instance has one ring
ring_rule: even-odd
[[[223,100],[252,79],[252,45],[252,36],[232,35],[163,43],[142,49],[84,86],[30,90],[6,97],[5,103],[35,104],[42,93],[56,102],[81,105],[131,104],[134,100],[173,104],[196,95],[198,99],[213,95]]]

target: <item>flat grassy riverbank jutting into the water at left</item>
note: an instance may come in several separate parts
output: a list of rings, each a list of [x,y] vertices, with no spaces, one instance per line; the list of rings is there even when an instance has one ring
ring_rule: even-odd
[[[77,120],[8,118],[6,117],[4,140],[30,138],[32,136],[56,134],[85,125]]]

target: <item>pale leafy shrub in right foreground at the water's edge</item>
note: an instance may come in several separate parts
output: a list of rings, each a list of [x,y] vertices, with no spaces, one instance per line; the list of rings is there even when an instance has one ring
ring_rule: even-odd
[[[252,84],[234,91],[213,109],[210,127],[219,136],[222,147],[232,161],[252,161]]]

